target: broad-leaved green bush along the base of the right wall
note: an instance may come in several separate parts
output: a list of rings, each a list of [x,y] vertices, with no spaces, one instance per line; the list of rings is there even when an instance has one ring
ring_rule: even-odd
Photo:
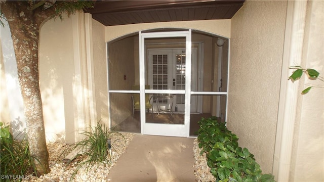
[[[274,181],[273,175],[262,174],[260,165],[247,148],[238,147],[238,137],[216,117],[198,122],[198,146],[206,153],[207,164],[216,181]]]

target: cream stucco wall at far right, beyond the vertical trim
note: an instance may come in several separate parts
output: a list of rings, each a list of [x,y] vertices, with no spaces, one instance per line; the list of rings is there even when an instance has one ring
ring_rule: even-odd
[[[324,2],[307,3],[302,66],[324,74]],[[323,81],[302,77],[299,92]],[[291,181],[324,181],[324,90],[299,95],[292,150]]]

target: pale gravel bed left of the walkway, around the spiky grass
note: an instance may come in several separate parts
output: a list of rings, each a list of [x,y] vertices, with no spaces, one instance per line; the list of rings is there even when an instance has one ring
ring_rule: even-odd
[[[111,138],[111,144],[113,147],[111,163],[103,164],[97,163],[90,170],[87,171],[87,167],[81,167],[72,180],[71,176],[77,167],[77,163],[82,161],[82,157],[74,159],[69,164],[62,162],[64,158],[61,155],[65,150],[69,150],[69,145],[62,143],[50,143],[47,145],[49,151],[49,165],[51,172],[44,174],[42,176],[36,177],[29,175],[29,179],[24,179],[23,181],[107,181],[107,175],[112,166],[119,158],[119,156],[125,152],[128,144],[133,140],[134,133],[121,133],[115,134]]]

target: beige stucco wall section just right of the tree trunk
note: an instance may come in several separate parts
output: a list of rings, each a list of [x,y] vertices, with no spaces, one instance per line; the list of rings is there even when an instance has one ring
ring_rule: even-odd
[[[72,20],[49,20],[40,37],[39,84],[46,136],[49,141],[65,140],[65,122],[74,120]]]

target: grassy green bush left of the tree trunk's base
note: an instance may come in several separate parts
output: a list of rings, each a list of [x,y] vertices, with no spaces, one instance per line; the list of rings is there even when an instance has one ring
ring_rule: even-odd
[[[34,173],[35,166],[30,156],[28,142],[26,140],[14,140],[9,131],[9,126],[0,122],[0,143],[1,143],[1,180],[12,181],[22,180],[28,174]]]

